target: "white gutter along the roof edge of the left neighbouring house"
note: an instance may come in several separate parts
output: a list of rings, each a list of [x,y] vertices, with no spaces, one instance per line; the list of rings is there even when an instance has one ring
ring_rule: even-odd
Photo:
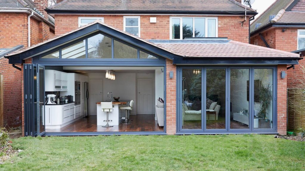
[[[51,23],[49,20],[45,19],[43,16],[39,15],[37,12],[30,8],[0,7],[0,12],[24,12],[29,15],[31,15],[33,12],[35,19],[48,23],[48,25],[51,26],[50,28],[52,28],[52,30],[55,30],[55,25],[53,23]]]

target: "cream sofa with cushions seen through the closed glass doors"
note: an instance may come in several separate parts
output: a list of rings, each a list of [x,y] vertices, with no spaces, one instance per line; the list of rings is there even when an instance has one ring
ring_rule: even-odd
[[[217,105],[217,102],[211,103],[207,111],[215,112],[215,116],[210,114],[209,120],[218,120],[220,107],[220,105]],[[182,118],[183,120],[201,120],[201,110],[188,110],[186,104],[182,103]]]

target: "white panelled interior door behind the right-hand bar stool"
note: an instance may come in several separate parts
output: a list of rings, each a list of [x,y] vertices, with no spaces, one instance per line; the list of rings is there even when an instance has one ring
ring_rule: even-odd
[[[152,114],[152,79],[137,79],[137,114]]]

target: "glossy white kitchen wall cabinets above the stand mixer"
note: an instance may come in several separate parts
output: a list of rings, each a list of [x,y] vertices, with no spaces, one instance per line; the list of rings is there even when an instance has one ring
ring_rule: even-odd
[[[68,75],[65,72],[45,70],[45,91],[67,91]]]

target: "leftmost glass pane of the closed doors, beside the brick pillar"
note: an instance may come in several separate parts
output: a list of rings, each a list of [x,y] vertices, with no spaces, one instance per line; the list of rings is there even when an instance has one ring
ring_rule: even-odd
[[[182,129],[202,129],[201,73],[201,69],[182,69]]]

